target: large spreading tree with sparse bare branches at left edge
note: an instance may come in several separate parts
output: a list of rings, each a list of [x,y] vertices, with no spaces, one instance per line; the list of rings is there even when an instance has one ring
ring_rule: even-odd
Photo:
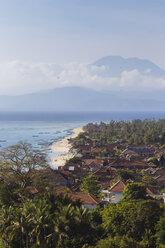
[[[19,142],[5,148],[0,153],[0,204],[29,196],[28,187],[36,186],[39,172],[47,167],[46,155],[29,143]]]

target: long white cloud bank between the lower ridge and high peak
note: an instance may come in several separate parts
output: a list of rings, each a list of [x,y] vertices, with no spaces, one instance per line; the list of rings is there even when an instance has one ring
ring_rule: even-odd
[[[27,63],[11,61],[0,64],[0,94],[25,94],[57,87],[83,86],[96,90],[165,89],[165,78],[153,78],[138,70],[123,71],[120,77],[104,77],[104,66],[87,63]]]

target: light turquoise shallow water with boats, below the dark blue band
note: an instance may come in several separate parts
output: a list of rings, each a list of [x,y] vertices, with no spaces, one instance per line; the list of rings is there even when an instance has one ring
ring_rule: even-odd
[[[51,145],[73,134],[72,129],[81,127],[81,122],[3,121],[0,122],[0,150],[19,141],[28,142],[35,149],[48,155],[49,163],[54,156]]]

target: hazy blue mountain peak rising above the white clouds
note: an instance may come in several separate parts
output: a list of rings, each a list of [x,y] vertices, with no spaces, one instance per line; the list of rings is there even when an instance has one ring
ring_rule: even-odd
[[[104,77],[120,77],[123,71],[132,70],[138,70],[141,74],[153,77],[165,77],[165,70],[146,59],[107,56],[97,60],[93,65],[105,67],[105,70],[100,72]]]

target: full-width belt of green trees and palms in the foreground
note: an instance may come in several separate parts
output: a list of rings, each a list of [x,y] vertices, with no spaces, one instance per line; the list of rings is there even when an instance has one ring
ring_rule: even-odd
[[[12,205],[3,204],[2,244],[13,248],[155,248],[165,244],[164,207],[143,199],[144,195],[131,199],[128,190],[125,195],[127,201],[93,211],[67,196],[46,191]]]

